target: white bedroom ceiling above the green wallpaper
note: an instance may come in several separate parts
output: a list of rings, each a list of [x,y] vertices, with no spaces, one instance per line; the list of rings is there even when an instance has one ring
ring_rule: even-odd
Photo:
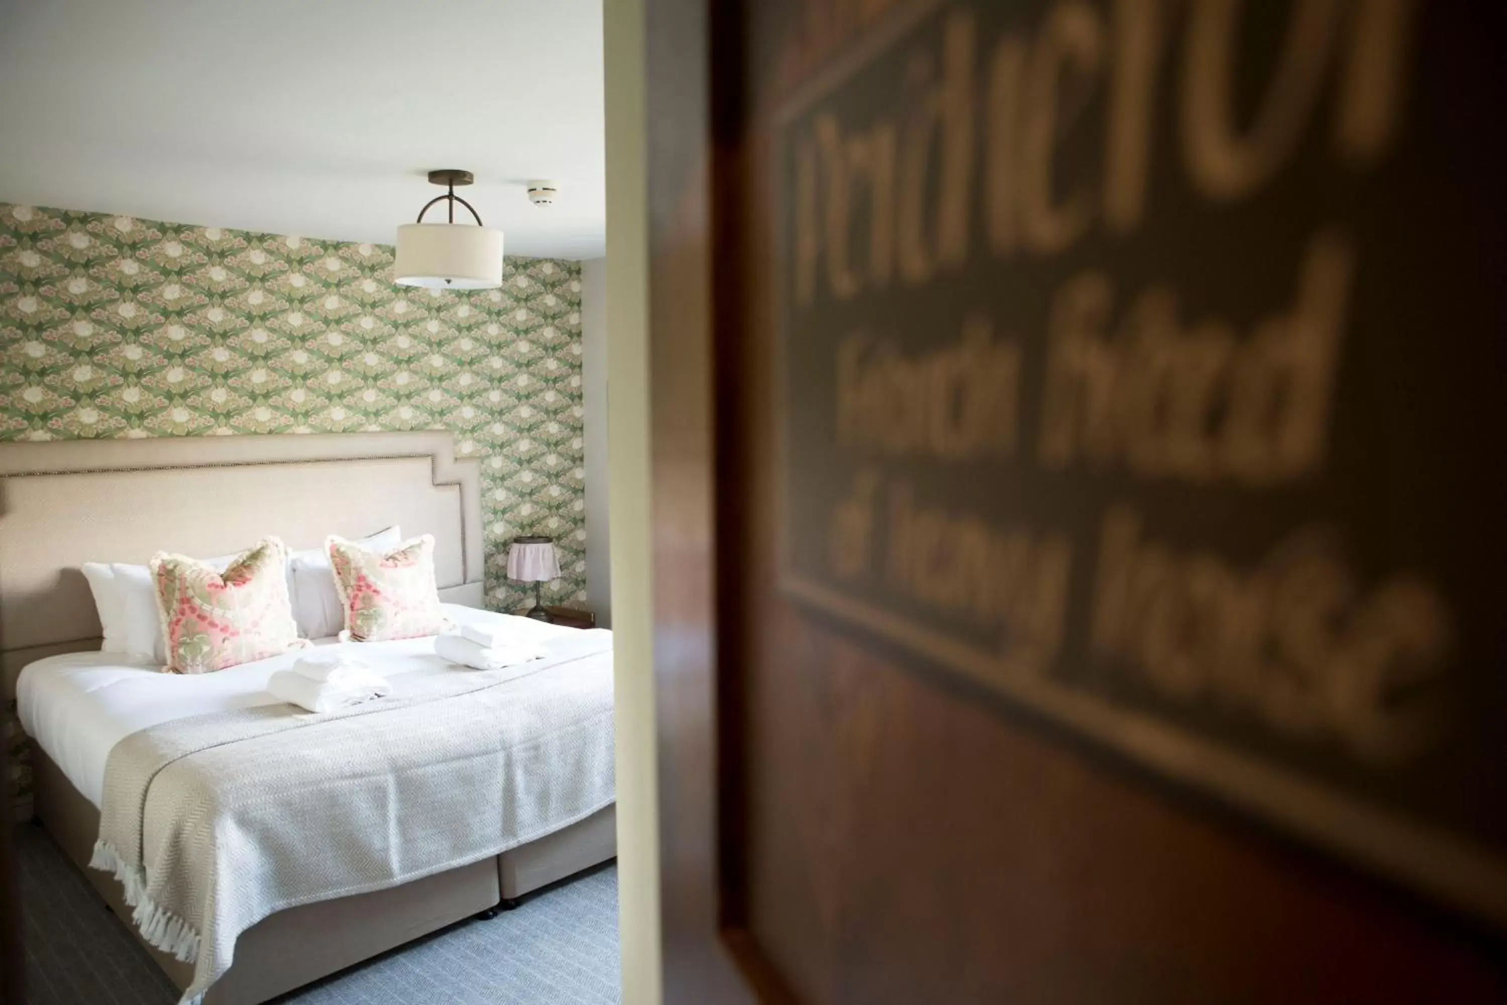
[[[595,258],[601,87],[601,0],[0,0],[0,202],[392,243],[463,167],[509,255]]]

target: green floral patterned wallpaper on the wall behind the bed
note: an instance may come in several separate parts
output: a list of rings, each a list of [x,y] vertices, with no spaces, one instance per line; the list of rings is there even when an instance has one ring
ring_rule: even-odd
[[[392,283],[392,247],[0,203],[0,440],[452,429],[482,460],[487,597],[555,538],[585,604],[580,264]],[[5,723],[0,723],[3,726]]]

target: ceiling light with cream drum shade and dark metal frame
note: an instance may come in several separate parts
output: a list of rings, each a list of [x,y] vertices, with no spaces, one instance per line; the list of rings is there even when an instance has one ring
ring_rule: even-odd
[[[482,226],[481,214],[472,203],[455,194],[455,185],[469,185],[476,178],[469,170],[431,170],[429,181],[445,185],[419,209],[417,223],[398,228],[398,255],[393,262],[399,286],[431,289],[491,289],[502,285],[502,231]],[[423,214],[436,202],[449,202],[448,223],[425,223]],[[455,203],[476,217],[476,226],[455,223]]]

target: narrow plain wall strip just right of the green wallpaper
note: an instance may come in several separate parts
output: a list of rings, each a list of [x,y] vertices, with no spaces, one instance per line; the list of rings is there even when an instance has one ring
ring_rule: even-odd
[[[607,259],[580,264],[580,351],[586,441],[586,606],[612,627],[612,554],[607,526]]]

